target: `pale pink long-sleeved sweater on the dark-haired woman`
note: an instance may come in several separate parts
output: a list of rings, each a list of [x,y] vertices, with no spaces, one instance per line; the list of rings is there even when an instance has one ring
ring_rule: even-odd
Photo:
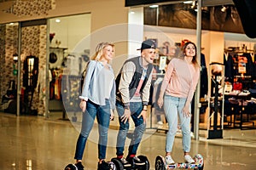
[[[166,95],[187,98],[187,102],[191,102],[199,77],[199,66],[195,67],[183,59],[174,58],[167,66],[161,91],[166,91]]]

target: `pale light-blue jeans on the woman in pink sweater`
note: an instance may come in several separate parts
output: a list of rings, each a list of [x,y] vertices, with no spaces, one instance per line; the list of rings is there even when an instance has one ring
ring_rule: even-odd
[[[190,151],[190,119],[183,116],[183,107],[186,103],[186,99],[177,98],[170,95],[165,95],[164,98],[164,110],[166,113],[166,119],[169,125],[168,133],[166,135],[166,152],[172,152],[172,146],[177,133],[177,116],[179,117],[180,126],[183,133],[183,151]],[[189,110],[191,106],[189,105]],[[191,111],[190,111],[191,112]]]

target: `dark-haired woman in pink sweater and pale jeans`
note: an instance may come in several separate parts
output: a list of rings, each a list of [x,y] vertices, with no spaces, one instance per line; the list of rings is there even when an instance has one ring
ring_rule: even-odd
[[[195,162],[190,151],[190,119],[191,100],[200,77],[200,65],[196,61],[196,47],[194,42],[186,42],[179,58],[173,58],[167,66],[166,75],[160,88],[158,105],[164,106],[169,125],[166,135],[166,163],[172,164],[171,152],[177,132],[177,116],[183,133],[184,160]]]

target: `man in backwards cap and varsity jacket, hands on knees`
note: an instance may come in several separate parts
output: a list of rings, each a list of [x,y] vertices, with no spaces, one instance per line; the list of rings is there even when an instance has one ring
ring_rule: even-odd
[[[127,59],[117,76],[116,109],[119,114],[119,133],[117,137],[116,155],[124,167],[144,165],[137,158],[137,148],[143,138],[146,127],[147,105],[151,86],[155,42],[146,40],[140,48],[141,56]],[[129,121],[135,124],[131,135],[128,156],[124,157],[125,139],[129,130]]]

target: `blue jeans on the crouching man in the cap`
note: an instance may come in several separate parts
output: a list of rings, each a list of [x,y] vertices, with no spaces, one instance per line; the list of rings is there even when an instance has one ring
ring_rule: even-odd
[[[119,114],[119,133],[117,137],[116,155],[123,156],[124,150],[125,150],[125,139],[126,139],[126,135],[130,125],[128,121],[121,122],[120,117],[124,115],[125,108],[119,101],[116,101],[116,109]],[[137,116],[139,116],[143,111],[143,104],[141,102],[131,102],[130,111],[131,111],[131,118],[135,124],[135,129],[131,137],[128,156],[137,154],[138,145],[143,139],[143,133],[146,128],[146,125],[143,123],[143,116],[140,116],[139,118],[137,118]]]

